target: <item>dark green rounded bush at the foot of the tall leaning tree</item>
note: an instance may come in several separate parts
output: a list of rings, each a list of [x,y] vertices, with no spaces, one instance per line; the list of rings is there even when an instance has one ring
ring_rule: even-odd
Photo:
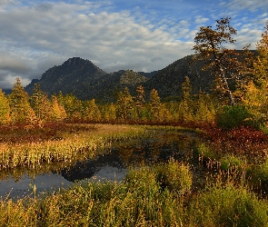
[[[253,126],[250,119],[252,114],[243,105],[225,105],[223,110],[217,114],[216,124],[218,127],[231,130],[240,126]]]

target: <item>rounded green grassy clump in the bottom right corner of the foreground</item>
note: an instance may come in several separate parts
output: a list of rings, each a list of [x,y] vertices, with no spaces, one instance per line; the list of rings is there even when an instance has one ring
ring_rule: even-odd
[[[268,206],[253,193],[227,185],[213,187],[190,204],[191,226],[267,226]]]

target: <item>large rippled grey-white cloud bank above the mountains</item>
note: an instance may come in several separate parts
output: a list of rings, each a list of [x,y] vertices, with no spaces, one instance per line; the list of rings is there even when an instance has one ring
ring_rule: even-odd
[[[95,12],[93,4],[17,6],[0,15],[4,28],[0,38],[5,49],[12,46],[16,55],[0,59],[0,69],[10,75],[23,72],[30,81],[73,56],[91,60],[106,72],[126,67],[145,72],[162,69],[191,53],[190,44],[184,53],[177,52],[181,44],[172,44],[175,37],[165,25],[169,22],[164,19],[157,28],[149,20],[139,24],[127,11]],[[20,61],[21,53],[28,57],[27,63]]]

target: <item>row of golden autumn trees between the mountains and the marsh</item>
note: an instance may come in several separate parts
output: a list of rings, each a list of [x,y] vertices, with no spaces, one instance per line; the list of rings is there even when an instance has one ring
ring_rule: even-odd
[[[162,102],[156,90],[145,94],[144,87],[139,85],[134,95],[124,88],[114,104],[96,104],[94,99],[82,101],[73,94],[59,93],[49,98],[39,84],[28,95],[21,80],[16,78],[11,94],[5,95],[0,90],[0,123],[214,123],[211,97],[202,92],[192,95],[188,77],[182,90],[180,101]]]

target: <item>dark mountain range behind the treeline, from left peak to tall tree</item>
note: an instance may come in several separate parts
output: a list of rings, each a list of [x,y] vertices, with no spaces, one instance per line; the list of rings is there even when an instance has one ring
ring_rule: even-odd
[[[253,51],[256,54],[256,51]],[[185,76],[188,76],[193,86],[193,93],[200,90],[210,93],[213,84],[213,76],[209,72],[203,72],[203,61],[194,61],[195,54],[187,55],[182,59],[151,73],[134,72],[133,70],[120,70],[111,74],[105,73],[89,60],[73,57],[64,64],[48,69],[40,80],[33,80],[25,87],[25,91],[32,93],[34,84],[38,83],[41,89],[48,95],[74,94],[82,100],[95,99],[97,102],[115,102],[116,95],[124,87],[128,87],[130,93],[139,84],[144,85],[147,99],[152,89],[156,89],[162,99],[178,99],[181,96],[181,86]]]

